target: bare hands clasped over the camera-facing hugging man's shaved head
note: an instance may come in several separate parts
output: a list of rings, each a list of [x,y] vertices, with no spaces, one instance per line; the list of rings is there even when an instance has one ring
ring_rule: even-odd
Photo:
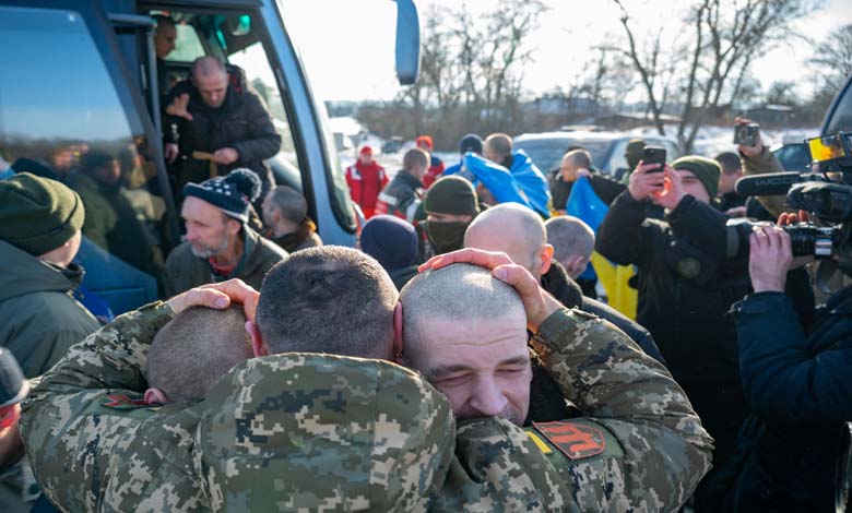
[[[526,327],[533,333],[537,333],[541,323],[561,308],[559,301],[542,289],[530,271],[517,265],[506,253],[473,248],[462,249],[433,256],[419,266],[419,271],[437,270],[461,263],[488,269],[495,278],[511,285],[523,302]]]

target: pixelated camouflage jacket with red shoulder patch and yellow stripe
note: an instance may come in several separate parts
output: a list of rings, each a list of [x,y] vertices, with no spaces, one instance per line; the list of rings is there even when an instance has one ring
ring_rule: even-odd
[[[584,417],[461,425],[434,511],[677,511],[710,468],[712,439],[668,371],[577,310],[551,315],[533,346]]]

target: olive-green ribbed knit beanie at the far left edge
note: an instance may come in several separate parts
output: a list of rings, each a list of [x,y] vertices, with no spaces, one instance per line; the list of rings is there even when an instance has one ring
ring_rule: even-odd
[[[0,239],[38,256],[83,227],[82,200],[63,183],[20,172],[0,181]]]

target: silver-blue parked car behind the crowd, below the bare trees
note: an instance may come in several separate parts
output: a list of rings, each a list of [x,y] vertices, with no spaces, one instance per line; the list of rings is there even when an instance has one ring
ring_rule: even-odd
[[[559,167],[563,155],[571,146],[582,146],[592,154],[592,166],[613,177],[627,169],[624,152],[637,135],[620,132],[545,132],[524,133],[514,138],[513,146],[523,150],[545,172]],[[674,141],[659,135],[642,136],[647,144],[665,148],[668,162],[681,156]]]

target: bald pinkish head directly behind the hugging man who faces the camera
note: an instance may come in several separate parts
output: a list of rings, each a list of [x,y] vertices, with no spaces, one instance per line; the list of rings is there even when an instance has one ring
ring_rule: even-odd
[[[502,203],[486,210],[464,234],[465,248],[502,251],[536,277],[542,274],[539,256],[546,240],[541,216],[517,203]]]

